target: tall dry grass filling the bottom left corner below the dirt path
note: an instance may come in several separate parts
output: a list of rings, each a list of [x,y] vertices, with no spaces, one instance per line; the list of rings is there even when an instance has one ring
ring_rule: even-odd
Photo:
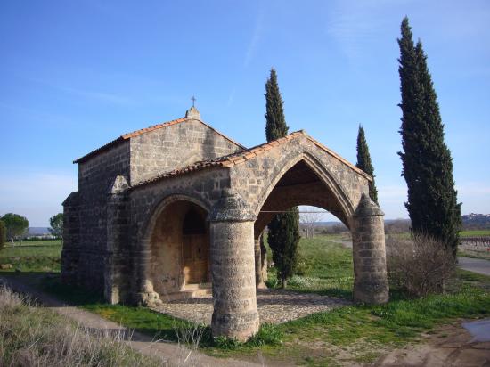
[[[135,353],[121,334],[94,333],[26,298],[0,288],[2,366],[158,366]]]

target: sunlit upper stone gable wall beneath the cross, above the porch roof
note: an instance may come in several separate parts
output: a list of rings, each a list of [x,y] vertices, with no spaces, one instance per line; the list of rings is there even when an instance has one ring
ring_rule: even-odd
[[[131,138],[131,185],[200,160],[242,148],[197,119],[188,119]]]

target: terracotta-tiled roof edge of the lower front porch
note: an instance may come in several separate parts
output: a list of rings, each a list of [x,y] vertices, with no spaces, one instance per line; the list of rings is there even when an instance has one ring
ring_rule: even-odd
[[[245,151],[239,151],[233,154],[229,154],[227,156],[219,157],[216,159],[211,159],[211,160],[203,160],[200,162],[196,162],[192,164],[191,166],[186,166],[182,168],[176,168],[172,171],[165,172],[160,175],[156,175],[154,177],[151,177],[148,180],[142,181],[138,184],[135,184],[133,187],[141,186],[144,184],[151,184],[156,181],[162,180],[167,177],[172,177],[176,175],[184,175],[190,172],[195,172],[195,171],[200,171],[202,169],[206,169],[209,167],[232,167],[234,165],[241,164],[249,159],[253,159],[254,157],[257,157],[259,155],[264,154],[266,151],[270,151],[273,149],[275,146],[281,145],[283,143],[287,143],[290,140],[293,140],[297,138],[298,136],[305,136],[306,139],[308,139],[310,142],[314,143],[318,148],[322,149],[323,151],[327,152],[330,154],[332,157],[335,157],[336,159],[339,159],[343,164],[345,164],[347,167],[350,167],[351,169],[355,170],[359,175],[363,175],[364,178],[366,178],[369,181],[372,181],[372,177],[368,174],[366,174],[362,169],[355,167],[352,163],[350,163],[347,159],[343,159],[342,157],[339,156],[335,151],[332,151],[331,149],[327,148],[324,146],[322,143],[317,142],[312,138],[310,135],[307,135],[304,130],[299,130],[295,131],[294,133],[291,133],[289,135],[286,135],[282,138],[273,140],[268,143],[263,143],[260,145],[257,145],[255,147],[249,148]]]

